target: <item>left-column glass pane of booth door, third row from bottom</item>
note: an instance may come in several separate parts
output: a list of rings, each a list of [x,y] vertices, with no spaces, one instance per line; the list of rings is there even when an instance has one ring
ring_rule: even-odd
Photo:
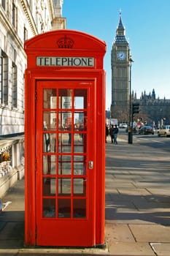
[[[56,159],[55,156],[43,156],[43,174],[55,174]]]

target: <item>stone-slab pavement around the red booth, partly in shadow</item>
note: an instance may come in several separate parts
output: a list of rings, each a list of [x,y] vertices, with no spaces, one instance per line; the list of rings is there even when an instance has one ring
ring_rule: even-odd
[[[24,179],[1,198],[0,255],[170,255],[169,153],[128,144],[106,144],[106,248],[24,247]],[[150,151],[150,157],[148,157]]]

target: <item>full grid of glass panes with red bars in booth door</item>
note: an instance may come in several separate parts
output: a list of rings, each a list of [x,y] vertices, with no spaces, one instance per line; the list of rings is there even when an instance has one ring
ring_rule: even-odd
[[[86,217],[88,112],[87,90],[83,91],[86,97],[81,90],[44,89],[42,207],[45,218]]]

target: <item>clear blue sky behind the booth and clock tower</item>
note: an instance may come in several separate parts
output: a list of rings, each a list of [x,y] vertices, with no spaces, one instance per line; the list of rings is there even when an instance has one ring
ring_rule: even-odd
[[[119,22],[134,60],[131,87],[139,98],[155,89],[156,97],[170,99],[170,0],[63,0],[66,29],[92,34],[107,43],[104,57],[107,99],[111,104],[111,50]]]

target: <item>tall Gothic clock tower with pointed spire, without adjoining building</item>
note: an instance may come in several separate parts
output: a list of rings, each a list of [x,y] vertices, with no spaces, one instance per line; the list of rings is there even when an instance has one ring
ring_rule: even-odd
[[[129,59],[130,48],[125,38],[125,28],[122,23],[121,12],[116,30],[115,41],[112,45],[112,118],[118,121],[128,121],[129,102]]]

